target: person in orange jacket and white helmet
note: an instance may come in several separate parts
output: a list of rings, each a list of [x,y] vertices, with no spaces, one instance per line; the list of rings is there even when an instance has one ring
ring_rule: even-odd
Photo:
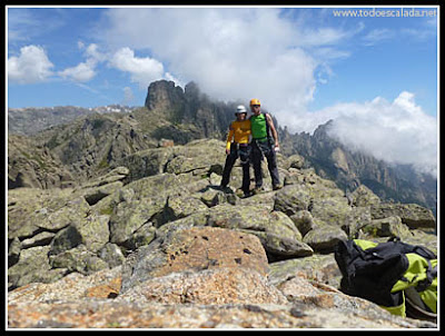
[[[243,166],[243,186],[241,190],[245,196],[249,195],[249,186],[250,186],[250,171],[249,171],[249,157],[250,157],[250,145],[249,137],[251,134],[250,130],[250,120],[247,117],[246,108],[240,105],[237,107],[237,111],[235,112],[237,119],[230,123],[229,134],[227,136],[227,145],[226,145],[226,164],[224,166],[222,171],[222,180],[221,188],[226,188],[229,184],[230,171],[235,165],[235,161],[239,157]]]

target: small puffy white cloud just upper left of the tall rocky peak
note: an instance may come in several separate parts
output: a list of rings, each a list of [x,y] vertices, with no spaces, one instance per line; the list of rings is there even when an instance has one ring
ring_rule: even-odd
[[[110,66],[129,72],[131,81],[146,88],[151,81],[164,78],[164,66],[156,59],[135,57],[130,48],[121,48],[110,58]]]

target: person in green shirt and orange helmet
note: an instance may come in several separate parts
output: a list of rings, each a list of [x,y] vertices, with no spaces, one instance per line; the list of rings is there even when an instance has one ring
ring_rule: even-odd
[[[277,156],[279,150],[278,134],[275,129],[274,121],[269,113],[263,113],[258,99],[250,100],[250,110],[254,113],[250,116],[251,125],[251,159],[255,172],[255,189],[254,194],[263,189],[261,160],[265,156],[267,159],[267,168],[271,177],[273,189],[281,189],[279,182]]]

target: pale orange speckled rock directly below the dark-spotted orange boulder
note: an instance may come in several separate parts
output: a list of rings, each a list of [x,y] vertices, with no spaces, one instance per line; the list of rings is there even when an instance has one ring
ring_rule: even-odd
[[[118,297],[137,304],[286,304],[258,271],[244,267],[195,269],[147,279]]]

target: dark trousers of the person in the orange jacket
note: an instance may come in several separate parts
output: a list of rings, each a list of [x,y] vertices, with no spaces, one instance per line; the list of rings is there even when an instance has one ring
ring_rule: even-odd
[[[243,167],[243,186],[241,189],[244,192],[249,191],[250,186],[250,146],[238,146],[237,144],[233,142],[230,146],[230,154],[226,157],[226,164],[222,170],[222,180],[221,186],[227,186],[230,179],[231,168],[234,168],[235,161],[238,159],[241,160]]]

